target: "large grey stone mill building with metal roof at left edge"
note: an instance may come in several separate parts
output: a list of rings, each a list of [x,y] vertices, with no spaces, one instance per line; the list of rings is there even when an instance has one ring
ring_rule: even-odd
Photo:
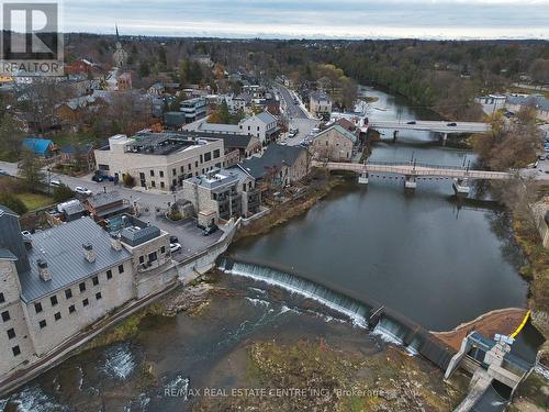
[[[91,218],[22,235],[0,205],[0,380],[173,281],[168,233],[124,223],[113,236]]]

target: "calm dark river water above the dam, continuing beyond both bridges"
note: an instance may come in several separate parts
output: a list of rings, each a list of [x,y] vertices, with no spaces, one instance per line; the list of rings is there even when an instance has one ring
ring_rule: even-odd
[[[429,116],[381,91],[368,96],[369,118]],[[382,109],[382,110],[378,110]],[[430,114],[430,119],[435,115]],[[392,131],[385,132],[392,137]],[[380,142],[371,159],[461,166],[472,153],[442,147],[428,132],[401,132]],[[525,307],[524,263],[505,213],[492,202],[459,201],[451,180],[419,180],[405,193],[402,178],[370,175],[334,190],[306,214],[232,249],[236,257],[280,263],[320,282],[385,304],[441,331],[493,309]]]

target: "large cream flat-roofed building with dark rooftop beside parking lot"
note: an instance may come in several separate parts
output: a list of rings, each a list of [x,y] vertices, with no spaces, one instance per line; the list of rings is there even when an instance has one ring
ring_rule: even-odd
[[[191,132],[115,135],[96,151],[98,170],[115,179],[126,175],[142,188],[168,191],[192,176],[223,166],[223,141]]]

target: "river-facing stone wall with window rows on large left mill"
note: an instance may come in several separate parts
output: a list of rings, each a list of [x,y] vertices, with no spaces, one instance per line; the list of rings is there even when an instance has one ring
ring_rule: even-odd
[[[40,356],[52,350],[70,336],[77,334],[86,326],[103,318],[113,309],[135,298],[134,271],[132,260],[128,258],[123,264],[124,272],[119,272],[119,267],[110,268],[112,278],[108,279],[107,270],[90,276],[85,280],[75,282],[64,290],[48,294],[40,300],[26,303],[27,324],[30,334],[35,342],[35,352]],[[93,285],[92,278],[97,276],[99,285]],[[86,283],[86,290],[80,291],[80,282]],[[65,290],[70,289],[72,297],[66,298]],[[101,293],[101,299],[96,294]],[[53,305],[51,298],[57,297],[57,304]],[[85,305],[83,301],[88,300]],[[42,312],[36,313],[34,303],[42,304]],[[69,307],[76,311],[70,313]],[[55,314],[60,319],[56,320]],[[40,322],[45,320],[46,326],[41,327]]]

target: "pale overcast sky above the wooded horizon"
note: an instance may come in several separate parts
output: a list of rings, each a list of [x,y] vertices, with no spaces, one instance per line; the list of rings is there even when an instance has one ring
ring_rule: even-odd
[[[221,37],[546,38],[549,0],[64,0],[64,31]]]

